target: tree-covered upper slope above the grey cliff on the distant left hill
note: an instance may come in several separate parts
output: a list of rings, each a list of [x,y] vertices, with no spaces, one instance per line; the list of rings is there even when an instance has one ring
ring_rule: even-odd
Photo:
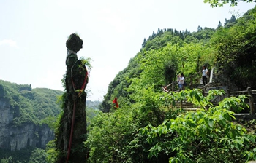
[[[14,125],[33,122],[34,124],[46,123],[49,116],[58,116],[60,107],[56,103],[58,96],[63,92],[47,88],[32,89],[29,84],[18,85],[0,80],[0,93],[2,98],[10,101],[13,108],[17,108]]]

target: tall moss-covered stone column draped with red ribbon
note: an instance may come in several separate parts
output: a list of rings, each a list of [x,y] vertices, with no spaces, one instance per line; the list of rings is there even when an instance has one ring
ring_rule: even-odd
[[[56,148],[59,151],[58,163],[86,162],[87,150],[83,146],[86,140],[86,84],[87,70],[77,52],[83,48],[83,40],[73,33],[66,42],[66,91],[63,95],[63,114],[56,132]],[[73,119],[73,113],[75,113]],[[71,141],[71,142],[70,142]],[[70,148],[70,150],[69,150]],[[70,151],[70,152],[69,152]]]

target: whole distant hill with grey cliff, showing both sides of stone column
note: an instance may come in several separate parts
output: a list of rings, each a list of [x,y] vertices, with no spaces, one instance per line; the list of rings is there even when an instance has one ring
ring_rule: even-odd
[[[63,91],[0,80],[0,162],[46,162]],[[99,101],[86,101],[95,116]]]

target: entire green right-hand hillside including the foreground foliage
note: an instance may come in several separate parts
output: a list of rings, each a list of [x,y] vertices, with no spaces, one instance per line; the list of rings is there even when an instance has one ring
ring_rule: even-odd
[[[144,39],[140,52],[110,82],[99,113],[89,126],[89,162],[246,162],[256,160],[255,120],[236,121],[245,95],[217,106],[200,84],[202,66],[214,69],[213,84],[232,90],[256,89],[256,8],[234,15],[216,28],[159,29]],[[186,90],[162,86],[184,73]],[[170,87],[170,90],[178,90]],[[113,103],[118,99],[118,108]],[[187,99],[200,110],[183,111]],[[247,128],[246,128],[247,127]],[[247,130],[246,130],[247,129]]]

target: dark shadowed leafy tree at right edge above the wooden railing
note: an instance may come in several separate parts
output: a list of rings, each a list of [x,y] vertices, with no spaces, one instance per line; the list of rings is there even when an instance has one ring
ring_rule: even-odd
[[[211,39],[223,84],[236,84],[240,89],[256,87],[255,11],[249,11],[249,20],[241,17],[236,25],[218,30]]]

